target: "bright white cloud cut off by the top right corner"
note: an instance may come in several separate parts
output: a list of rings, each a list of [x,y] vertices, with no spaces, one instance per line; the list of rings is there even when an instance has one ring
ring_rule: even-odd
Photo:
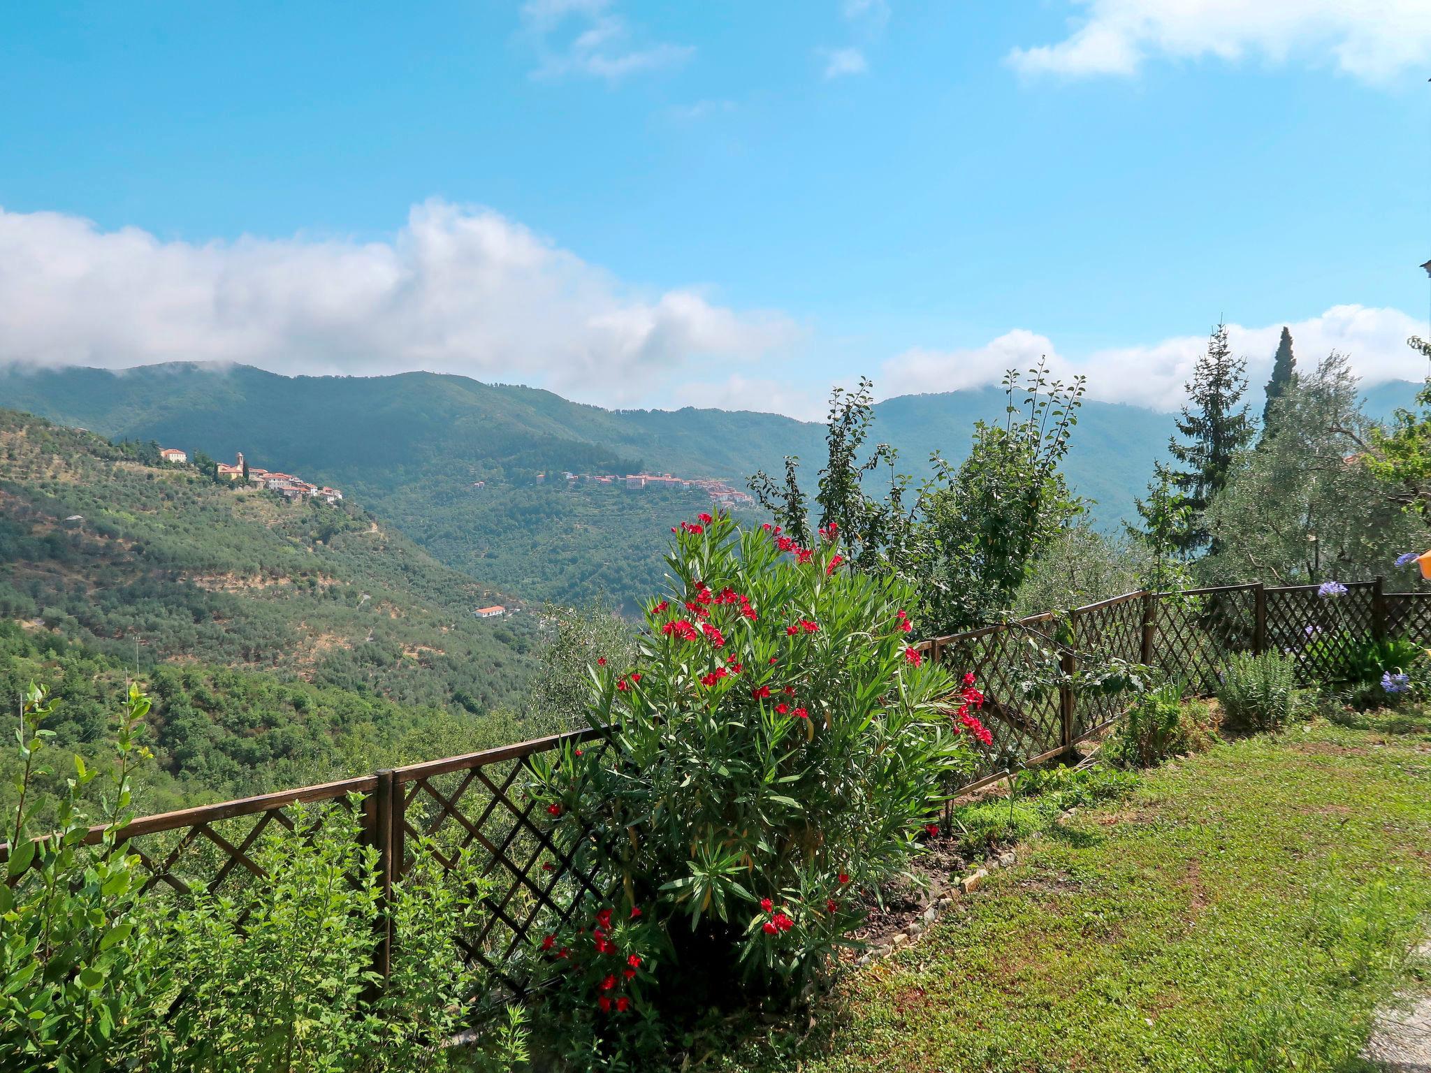
[[[1155,56],[1271,63],[1307,57],[1365,82],[1431,60],[1427,0],[1076,0],[1086,9],[1056,44],[1013,49],[1026,74],[1132,74]]]

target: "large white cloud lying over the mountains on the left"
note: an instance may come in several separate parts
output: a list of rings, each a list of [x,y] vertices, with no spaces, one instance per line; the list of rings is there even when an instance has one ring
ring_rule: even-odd
[[[0,209],[0,362],[429,369],[617,405],[798,335],[697,290],[640,293],[495,212],[441,200],[369,243],[193,245]]]

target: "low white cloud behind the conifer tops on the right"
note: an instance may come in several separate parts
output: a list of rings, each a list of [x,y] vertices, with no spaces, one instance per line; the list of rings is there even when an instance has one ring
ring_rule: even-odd
[[[1425,325],[1400,309],[1332,306],[1321,316],[1288,328],[1292,349],[1304,366],[1331,351],[1341,351],[1368,386],[1392,379],[1420,381],[1425,375],[1425,359],[1405,342],[1418,332],[1424,335]],[[1246,358],[1254,393],[1266,382],[1281,332],[1281,323],[1228,326],[1234,353]],[[1186,335],[1095,351],[1075,361],[1060,355],[1046,335],[1016,328],[983,346],[906,351],[884,362],[877,386],[884,396],[977,388],[997,383],[1006,369],[1027,369],[1040,356],[1047,356],[1056,376],[1088,376],[1089,398],[1176,409],[1185,396],[1183,383],[1206,346],[1206,335]]]

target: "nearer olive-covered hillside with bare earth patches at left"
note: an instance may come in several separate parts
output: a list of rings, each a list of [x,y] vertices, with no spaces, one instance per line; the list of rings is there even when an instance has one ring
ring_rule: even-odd
[[[199,661],[485,714],[531,680],[535,615],[346,504],[143,465],[0,411],[0,617],[149,667]]]

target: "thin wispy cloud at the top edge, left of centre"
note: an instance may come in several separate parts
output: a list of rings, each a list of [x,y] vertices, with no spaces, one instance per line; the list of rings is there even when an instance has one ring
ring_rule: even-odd
[[[675,67],[695,52],[687,44],[634,44],[635,33],[611,0],[528,0],[522,24],[531,36],[538,64],[532,77],[590,74],[620,82],[627,74]]]

